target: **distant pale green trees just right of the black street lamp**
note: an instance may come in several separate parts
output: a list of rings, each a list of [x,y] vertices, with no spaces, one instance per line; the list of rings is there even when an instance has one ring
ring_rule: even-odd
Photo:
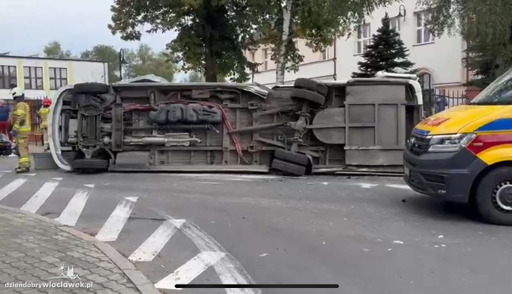
[[[124,49],[124,52],[128,62],[124,67],[127,78],[154,74],[169,82],[173,81],[175,66],[163,52],[155,54],[147,44],[140,44],[136,51]]]

